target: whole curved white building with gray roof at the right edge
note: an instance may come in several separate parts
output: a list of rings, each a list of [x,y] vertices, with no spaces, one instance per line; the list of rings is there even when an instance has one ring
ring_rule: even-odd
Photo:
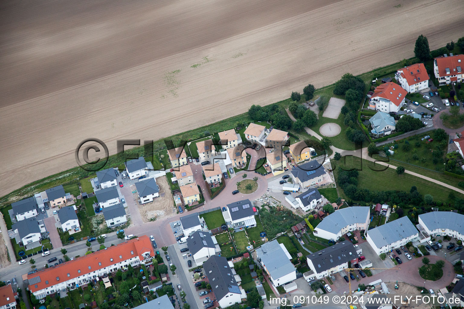
[[[430,236],[448,235],[464,240],[464,215],[452,211],[419,214],[419,224]]]

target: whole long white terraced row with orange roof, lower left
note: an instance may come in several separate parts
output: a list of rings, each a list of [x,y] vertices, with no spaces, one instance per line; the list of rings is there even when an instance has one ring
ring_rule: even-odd
[[[77,285],[82,287],[96,277],[126,268],[129,264],[133,267],[151,264],[154,256],[150,239],[143,235],[28,275],[28,288],[38,300],[42,300],[59,290],[77,289]]]

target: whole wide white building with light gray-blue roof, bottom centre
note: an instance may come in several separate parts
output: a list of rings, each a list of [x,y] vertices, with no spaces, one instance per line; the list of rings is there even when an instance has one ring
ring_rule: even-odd
[[[296,280],[296,268],[290,262],[290,253],[284,244],[279,244],[277,240],[266,242],[256,249],[256,256],[274,286]]]

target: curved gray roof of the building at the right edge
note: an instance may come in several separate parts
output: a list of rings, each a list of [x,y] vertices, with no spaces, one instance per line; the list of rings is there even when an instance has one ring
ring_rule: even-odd
[[[464,215],[452,211],[432,211],[419,214],[419,219],[432,231],[437,228],[448,228],[464,235]]]

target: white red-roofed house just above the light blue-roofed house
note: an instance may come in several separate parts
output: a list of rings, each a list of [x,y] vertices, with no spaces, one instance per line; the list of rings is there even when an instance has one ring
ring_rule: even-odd
[[[398,113],[405,103],[407,91],[394,82],[377,86],[369,99],[369,108],[385,113]]]

